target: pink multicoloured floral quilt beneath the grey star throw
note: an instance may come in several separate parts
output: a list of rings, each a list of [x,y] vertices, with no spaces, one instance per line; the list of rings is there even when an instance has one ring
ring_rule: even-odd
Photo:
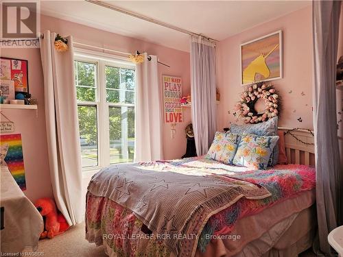
[[[196,238],[198,249],[202,252],[211,241],[211,235],[230,234],[238,219],[261,212],[268,206],[296,197],[298,193],[311,190],[315,186],[314,169],[303,165],[278,165],[273,169],[252,171],[200,157],[143,163],[141,166],[147,170],[168,167],[171,171],[184,170],[194,175],[208,175],[210,172],[220,176],[222,180],[235,179],[264,186],[272,193],[272,196],[259,200],[241,198],[232,206],[213,215],[201,233],[188,234],[188,237]],[[200,217],[193,217],[190,226],[195,225],[198,218]],[[118,256],[174,255],[170,247],[165,245],[165,238],[156,236],[131,210],[106,197],[95,196],[89,192],[86,203],[86,238],[97,245],[104,243]],[[191,242],[189,238],[183,238],[180,234],[179,239],[182,249],[191,247],[188,245]]]

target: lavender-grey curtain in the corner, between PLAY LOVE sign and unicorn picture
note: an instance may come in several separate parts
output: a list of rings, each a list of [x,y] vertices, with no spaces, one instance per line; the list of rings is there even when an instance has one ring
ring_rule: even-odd
[[[207,153],[217,130],[215,104],[215,45],[191,38],[191,102],[196,153]]]

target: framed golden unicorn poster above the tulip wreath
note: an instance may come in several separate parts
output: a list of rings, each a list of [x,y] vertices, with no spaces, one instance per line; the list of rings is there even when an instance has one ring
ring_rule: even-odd
[[[282,32],[241,45],[241,84],[282,78]]]

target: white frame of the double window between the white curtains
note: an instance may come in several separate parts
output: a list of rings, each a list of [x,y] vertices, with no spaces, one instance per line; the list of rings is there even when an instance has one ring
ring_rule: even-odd
[[[128,106],[136,108],[134,103],[108,103],[106,101],[106,74],[105,66],[115,66],[123,69],[134,69],[136,65],[130,62],[128,58],[115,56],[109,53],[99,53],[96,51],[74,49],[74,60],[80,62],[91,62],[96,64],[95,74],[95,102],[78,101],[82,106],[96,106],[97,107],[97,166],[82,168],[82,175],[88,178],[102,167],[110,165],[110,130],[109,130],[109,107]],[[136,80],[135,76],[135,80]],[[134,90],[136,93],[137,91]],[[135,94],[136,99],[136,94]],[[121,162],[126,163],[126,162]]]

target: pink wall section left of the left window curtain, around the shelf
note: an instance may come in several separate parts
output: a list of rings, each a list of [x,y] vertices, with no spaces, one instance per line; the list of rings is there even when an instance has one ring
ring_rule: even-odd
[[[38,118],[36,118],[36,110],[1,110],[14,122],[14,133],[21,133],[27,188],[24,193],[32,201],[43,196],[51,197],[39,49],[1,49],[1,56],[28,60],[29,93],[38,99]]]

